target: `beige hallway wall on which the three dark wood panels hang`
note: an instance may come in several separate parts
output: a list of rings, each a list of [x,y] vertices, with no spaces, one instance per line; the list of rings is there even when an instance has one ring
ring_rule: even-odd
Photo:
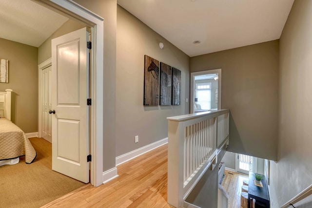
[[[164,48],[159,48],[159,42]],[[144,55],[181,71],[181,105],[143,106]],[[116,155],[168,136],[167,117],[189,111],[189,59],[143,22],[117,6]],[[135,143],[138,135],[139,142]]]

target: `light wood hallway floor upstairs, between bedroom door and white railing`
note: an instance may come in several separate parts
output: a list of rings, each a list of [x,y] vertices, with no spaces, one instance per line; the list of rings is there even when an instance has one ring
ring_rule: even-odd
[[[168,146],[163,145],[117,167],[116,179],[90,184],[43,208],[172,208],[167,204]]]

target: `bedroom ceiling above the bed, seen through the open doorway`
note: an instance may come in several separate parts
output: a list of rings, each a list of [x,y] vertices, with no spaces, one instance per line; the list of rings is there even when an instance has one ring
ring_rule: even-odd
[[[0,38],[39,47],[67,20],[31,0],[0,0]]]

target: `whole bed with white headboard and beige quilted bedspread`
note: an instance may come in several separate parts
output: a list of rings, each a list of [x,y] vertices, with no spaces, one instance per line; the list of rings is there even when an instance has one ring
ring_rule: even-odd
[[[37,156],[25,133],[11,121],[11,93],[0,92],[0,166],[19,163],[20,156],[30,164]]]

